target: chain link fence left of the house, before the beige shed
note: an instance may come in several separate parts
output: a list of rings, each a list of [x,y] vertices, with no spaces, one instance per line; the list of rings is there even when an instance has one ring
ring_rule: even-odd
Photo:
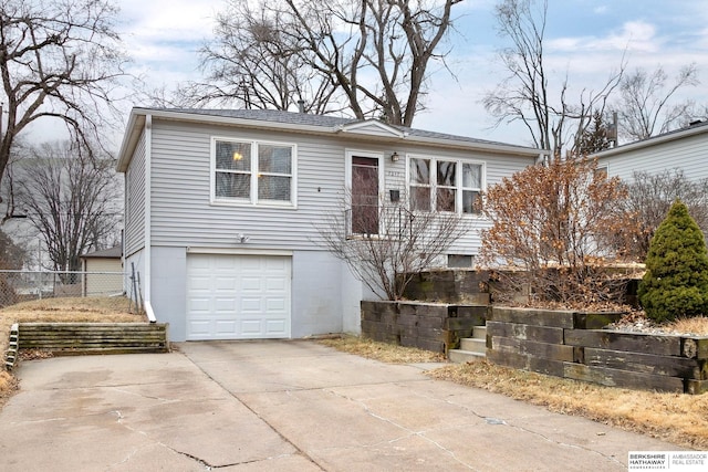
[[[131,281],[124,272],[0,271],[0,307],[41,298],[131,296]]]

